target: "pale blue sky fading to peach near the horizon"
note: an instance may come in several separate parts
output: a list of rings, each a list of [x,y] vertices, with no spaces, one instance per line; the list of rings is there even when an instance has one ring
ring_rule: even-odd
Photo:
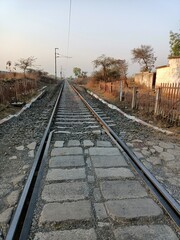
[[[131,76],[140,69],[131,50],[142,44],[154,49],[156,67],[168,63],[170,31],[180,32],[180,0],[0,0],[0,70],[34,56],[54,74],[59,48],[58,76],[74,67],[90,75],[102,54],[125,59]]]

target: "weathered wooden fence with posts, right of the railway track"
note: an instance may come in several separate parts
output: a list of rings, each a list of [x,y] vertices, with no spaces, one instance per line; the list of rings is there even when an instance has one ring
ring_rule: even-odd
[[[120,82],[100,82],[99,88],[105,92],[120,96]],[[122,102],[124,108],[143,111],[161,117],[167,122],[180,125],[180,83],[164,84],[156,90],[126,87],[122,82]]]

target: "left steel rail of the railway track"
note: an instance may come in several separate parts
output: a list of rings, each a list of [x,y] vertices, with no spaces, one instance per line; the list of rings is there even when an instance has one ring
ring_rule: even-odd
[[[28,209],[29,209],[29,206],[30,206],[29,203],[30,203],[32,195],[33,195],[33,189],[34,189],[34,186],[36,184],[36,180],[37,180],[37,177],[38,177],[38,171],[40,169],[40,166],[41,166],[41,163],[42,163],[42,160],[43,160],[44,152],[45,152],[45,149],[46,149],[46,143],[48,141],[48,136],[49,136],[49,133],[50,133],[50,128],[51,128],[51,125],[52,125],[52,121],[53,121],[53,118],[54,118],[54,115],[55,115],[60,97],[62,95],[63,87],[64,87],[64,83],[61,83],[56,103],[55,103],[54,108],[52,110],[51,117],[49,119],[46,130],[43,134],[40,146],[39,146],[39,148],[37,150],[37,153],[35,155],[33,166],[31,168],[31,171],[30,171],[29,176],[27,178],[27,181],[25,183],[24,189],[21,193],[21,197],[20,197],[20,200],[18,202],[16,211],[15,211],[15,213],[13,215],[13,218],[12,218],[12,221],[10,223],[10,227],[8,229],[6,240],[16,240],[16,239],[19,240],[22,229],[24,227],[26,227],[26,226],[24,226],[24,220],[25,220],[25,218],[27,218],[27,212],[28,212]],[[31,220],[31,219],[29,219],[29,220]],[[26,228],[26,231],[28,231],[27,228]],[[25,240],[25,238],[23,240]]]

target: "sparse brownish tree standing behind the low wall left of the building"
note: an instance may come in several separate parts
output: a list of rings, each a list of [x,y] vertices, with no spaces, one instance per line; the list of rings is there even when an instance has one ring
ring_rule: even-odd
[[[149,45],[141,45],[140,48],[134,48],[131,52],[133,55],[132,61],[138,62],[141,66],[141,71],[152,71],[156,57],[153,53],[153,48]]]

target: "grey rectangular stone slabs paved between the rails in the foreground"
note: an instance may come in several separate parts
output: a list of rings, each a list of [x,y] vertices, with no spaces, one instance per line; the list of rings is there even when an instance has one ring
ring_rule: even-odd
[[[55,142],[41,199],[35,240],[178,239],[110,141]]]

